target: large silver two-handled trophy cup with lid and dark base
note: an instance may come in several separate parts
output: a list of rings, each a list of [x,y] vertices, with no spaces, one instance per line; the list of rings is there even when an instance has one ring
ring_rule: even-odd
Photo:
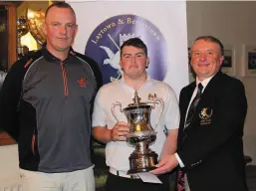
[[[128,157],[128,174],[148,172],[154,169],[157,164],[158,155],[149,148],[149,145],[156,139],[156,132],[150,125],[151,109],[155,107],[156,103],[161,104],[160,115],[156,122],[157,125],[163,110],[163,101],[159,98],[151,102],[140,102],[140,97],[135,92],[133,103],[128,104],[128,107],[122,109],[120,102],[114,103],[112,106],[113,115],[117,120],[115,107],[119,105],[121,112],[125,112],[129,126],[127,142],[128,145],[135,147],[135,150]]]

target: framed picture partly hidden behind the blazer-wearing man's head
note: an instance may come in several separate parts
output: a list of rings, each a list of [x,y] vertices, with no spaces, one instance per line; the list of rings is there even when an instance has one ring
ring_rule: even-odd
[[[224,45],[224,61],[221,72],[228,76],[235,76],[235,49],[231,45]]]

